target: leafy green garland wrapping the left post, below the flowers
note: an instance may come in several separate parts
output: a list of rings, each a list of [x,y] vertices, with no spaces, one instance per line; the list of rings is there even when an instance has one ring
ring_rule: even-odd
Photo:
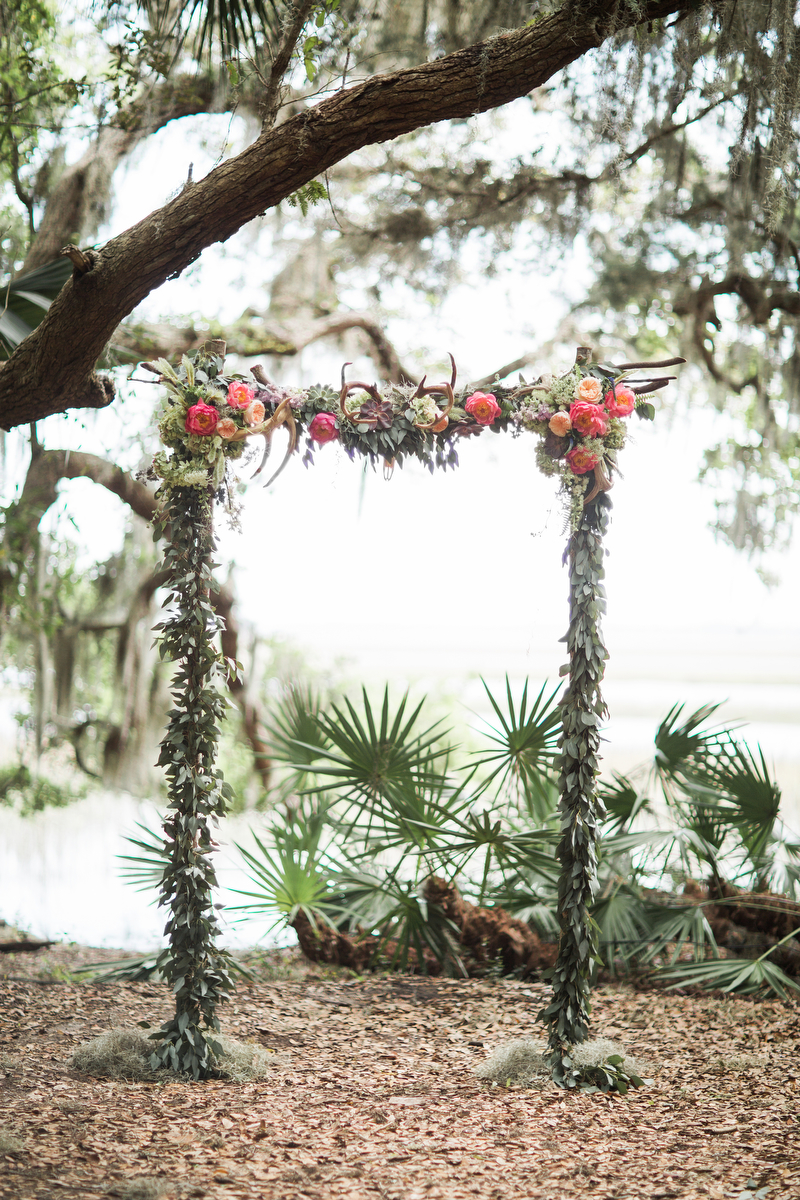
[[[225,701],[215,680],[219,628],[209,599],[211,587],[211,499],[193,487],[162,488],[162,529],[169,529],[164,566],[173,610],[157,626],[162,659],[175,662],[174,708],[158,764],[168,781],[164,820],[167,863],[160,904],[169,907],[169,947],[156,966],[175,995],[175,1016],[157,1034],[152,1066],[204,1079],[216,1070],[219,1044],[217,1006],[228,997],[230,962],[215,946],[217,880],[211,863],[211,826],[223,816],[229,790],[215,769]]]

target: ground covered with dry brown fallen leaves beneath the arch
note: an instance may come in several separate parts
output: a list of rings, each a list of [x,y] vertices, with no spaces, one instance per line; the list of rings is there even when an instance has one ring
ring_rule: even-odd
[[[170,1015],[162,985],[68,974],[114,956],[0,960],[4,1200],[800,1196],[796,1002],[601,986],[593,1034],[652,1081],[566,1094],[474,1075],[497,1045],[537,1036],[545,985],[353,978],[284,953],[221,1013],[225,1033],[273,1051],[269,1078],[126,1082],[68,1066],[103,1031]]]

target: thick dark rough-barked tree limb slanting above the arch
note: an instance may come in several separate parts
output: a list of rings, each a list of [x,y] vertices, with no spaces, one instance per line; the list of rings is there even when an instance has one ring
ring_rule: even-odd
[[[601,0],[569,2],[523,29],[342,90],[263,133],[112,239],[90,271],[65,284],[0,368],[0,426],[112,403],[114,385],[95,373],[95,364],[119,323],[206,246],[227,241],[342,158],[425,125],[506,104],[625,25],[646,25],[684,6],[681,0],[654,0],[637,10]]]

